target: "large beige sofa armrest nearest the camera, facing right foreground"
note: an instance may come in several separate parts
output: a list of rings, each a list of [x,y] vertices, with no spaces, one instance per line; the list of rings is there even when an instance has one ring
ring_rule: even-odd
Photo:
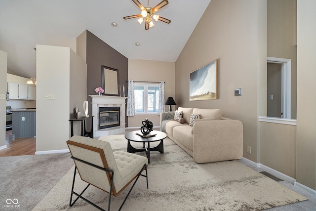
[[[197,163],[242,158],[243,127],[239,120],[210,120],[195,123],[193,158]]]

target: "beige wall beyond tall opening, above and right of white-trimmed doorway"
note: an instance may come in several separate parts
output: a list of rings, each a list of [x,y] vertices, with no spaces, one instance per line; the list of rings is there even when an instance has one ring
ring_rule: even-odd
[[[291,59],[291,118],[296,119],[296,0],[268,0],[268,56]]]

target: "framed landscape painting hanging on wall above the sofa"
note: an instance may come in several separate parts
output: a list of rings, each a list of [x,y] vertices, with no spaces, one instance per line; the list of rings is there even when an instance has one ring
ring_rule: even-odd
[[[217,60],[190,73],[190,101],[217,98]]]

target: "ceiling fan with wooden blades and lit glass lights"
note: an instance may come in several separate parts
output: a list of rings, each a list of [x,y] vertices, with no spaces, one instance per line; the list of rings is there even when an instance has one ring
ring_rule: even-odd
[[[160,17],[159,15],[154,15],[155,12],[157,12],[159,9],[167,5],[169,2],[167,0],[163,0],[160,3],[158,3],[156,6],[153,8],[149,6],[149,0],[147,0],[147,6],[144,7],[138,0],[132,0],[136,5],[142,10],[141,14],[137,15],[130,15],[130,16],[125,16],[123,17],[125,20],[130,19],[130,18],[137,18],[137,21],[142,24],[143,21],[145,21],[145,30],[148,30],[150,27],[154,26],[154,23],[152,19],[158,21],[162,21],[165,23],[171,23],[171,20],[168,20],[166,18]]]

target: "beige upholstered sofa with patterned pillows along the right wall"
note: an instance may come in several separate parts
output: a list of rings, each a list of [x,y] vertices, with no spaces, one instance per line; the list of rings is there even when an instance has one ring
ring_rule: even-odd
[[[160,130],[191,155],[197,163],[242,158],[242,123],[223,118],[220,109],[182,108],[183,119],[174,120],[175,112],[160,114]],[[200,115],[190,126],[191,114]]]

